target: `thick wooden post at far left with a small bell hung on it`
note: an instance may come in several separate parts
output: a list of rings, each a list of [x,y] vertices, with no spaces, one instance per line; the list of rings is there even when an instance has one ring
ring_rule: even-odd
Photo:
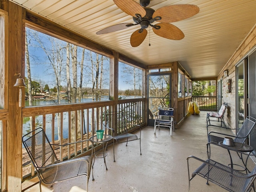
[[[22,74],[22,7],[9,1],[8,18],[8,103],[6,189],[21,191],[22,182],[22,108],[18,106],[19,88],[13,85]],[[23,89],[24,91],[24,89]]]

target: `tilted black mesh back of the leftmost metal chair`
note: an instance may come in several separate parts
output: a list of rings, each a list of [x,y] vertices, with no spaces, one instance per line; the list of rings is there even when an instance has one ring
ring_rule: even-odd
[[[44,130],[37,128],[36,130],[24,135],[22,142],[28,155],[33,160],[32,164],[40,174],[44,171],[44,168],[48,165],[59,162],[50,141],[48,140]]]

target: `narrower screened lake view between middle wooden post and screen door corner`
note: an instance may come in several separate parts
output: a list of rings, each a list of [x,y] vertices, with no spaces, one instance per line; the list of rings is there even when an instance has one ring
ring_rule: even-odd
[[[142,70],[119,62],[118,67],[119,99],[142,97]]]

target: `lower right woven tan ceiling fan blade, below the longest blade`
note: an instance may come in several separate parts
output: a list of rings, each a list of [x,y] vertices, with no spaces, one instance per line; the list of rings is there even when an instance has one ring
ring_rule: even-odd
[[[156,26],[160,26],[160,29],[153,27],[153,31],[160,37],[172,40],[181,40],[184,38],[184,33],[178,27],[170,23],[158,23]]]

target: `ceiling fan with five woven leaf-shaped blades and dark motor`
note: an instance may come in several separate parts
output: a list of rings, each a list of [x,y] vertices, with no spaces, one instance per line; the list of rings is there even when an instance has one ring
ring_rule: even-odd
[[[132,33],[130,43],[132,47],[139,46],[146,38],[148,31],[146,28],[151,26],[153,32],[158,36],[172,40],[181,40],[184,38],[184,33],[170,22],[176,22],[190,18],[199,12],[199,8],[192,4],[176,4],[169,5],[154,10],[148,8],[150,0],[140,0],[140,4],[134,0],[113,0],[114,3],[125,13],[132,16],[135,24],[120,23],[109,26],[96,32],[96,34],[106,34],[123,30],[134,25],[140,24],[140,29]],[[152,23],[159,22],[155,25]]]

